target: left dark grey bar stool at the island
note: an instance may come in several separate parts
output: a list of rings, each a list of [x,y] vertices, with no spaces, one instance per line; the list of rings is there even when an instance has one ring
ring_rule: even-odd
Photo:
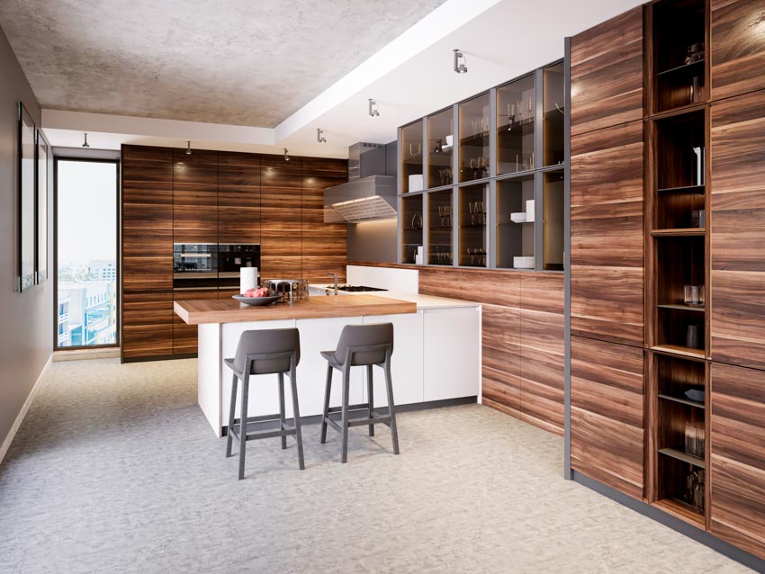
[[[231,405],[229,408],[229,433],[226,444],[226,456],[231,456],[231,444],[236,436],[239,442],[239,480],[245,474],[245,453],[247,441],[258,438],[282,437],[282,448],[287,448],[287,436],[295,435],[298,443],[298,462],[301,471],[305,469],[302,455],[302,434],[300,408],[298,407],[298,388],[295,370],[300,363],[300,333],[296,328],[267,329],[245,331],[239,337],[237,354],[224,362],[234,372],[231,382]],[[247,395],[251,375],[279,375],[279,430],[247,432],[247,424],[275,420],[277,415],[265,417],[247,417]],[[289,375],[293,395],[293,426],[287,426],[284,418],[284,374]],[[242,381],[241,406],[239,418],[235,418],[237,405],[238,381]]]

